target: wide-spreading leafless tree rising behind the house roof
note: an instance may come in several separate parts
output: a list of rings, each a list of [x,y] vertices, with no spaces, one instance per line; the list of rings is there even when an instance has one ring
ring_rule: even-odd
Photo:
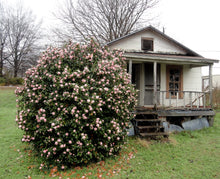
[[[55,16],[62,22],[58,37],[106,43],[129,34],[149,22],[149,10],[158,0],[66,0]]]

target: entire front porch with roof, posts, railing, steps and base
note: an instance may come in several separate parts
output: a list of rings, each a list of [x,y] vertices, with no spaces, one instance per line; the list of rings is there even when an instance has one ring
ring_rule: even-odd
[[[139,53],[128,53],[126,58],[131,83],[139,91],[132,121],[136,135],[167,137],[169,132],[188,130],[187,125],[192,129],[213,125],[212,65],[216,60]],[[205,91],[202,66],[209,66]]]

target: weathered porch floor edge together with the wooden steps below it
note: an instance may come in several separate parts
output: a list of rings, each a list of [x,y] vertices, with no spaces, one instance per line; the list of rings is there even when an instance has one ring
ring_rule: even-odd
[[[212,108],[155,108],[138,106],[132,121],[135,134],[141,137],[168,137],[164,123],[183,129],[183,123],[194,119],[206,118],[209,126],[213,125],[215,112]],[[184,129],[183,129],[184,130]]]

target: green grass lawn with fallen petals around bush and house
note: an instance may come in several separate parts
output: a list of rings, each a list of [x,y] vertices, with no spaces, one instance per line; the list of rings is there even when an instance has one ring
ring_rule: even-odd
[[[15,123],[14,88],[0,88],[0,178],[220,178],[220,113],[214,127],[172,134],[169,142],[129,138],[116,158],[43,172]]]

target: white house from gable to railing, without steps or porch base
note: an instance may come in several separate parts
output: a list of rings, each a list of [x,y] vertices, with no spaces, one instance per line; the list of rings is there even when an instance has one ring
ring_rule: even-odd
[[[107,45],[125,52],[132,83],[139,90],[139,106],[207,104],[201,67],[209,66],[211,78],[212,65],[218,60],[202,57],[152,26]]]

